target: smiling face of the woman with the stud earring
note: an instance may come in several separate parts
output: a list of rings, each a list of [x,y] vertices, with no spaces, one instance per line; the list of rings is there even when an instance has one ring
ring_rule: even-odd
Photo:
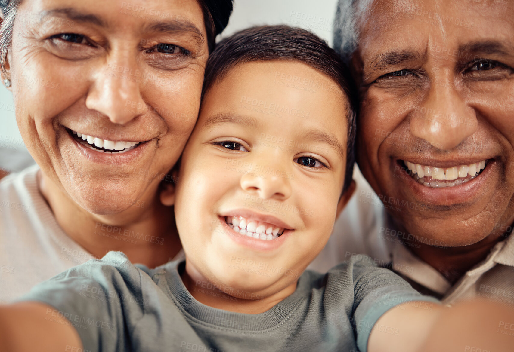
[[[140,205],[191,133],[207,58],[196,1],[25,0],[8,62],[20,132],[84,209]]]

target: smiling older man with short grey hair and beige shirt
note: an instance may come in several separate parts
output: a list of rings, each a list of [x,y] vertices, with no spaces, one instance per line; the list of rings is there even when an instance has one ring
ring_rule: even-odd
[[[339,259],[364,251],[446,304],[513,306],[514,2],[340,0],[334,33],[374,190],[354,203],[376,214]]]

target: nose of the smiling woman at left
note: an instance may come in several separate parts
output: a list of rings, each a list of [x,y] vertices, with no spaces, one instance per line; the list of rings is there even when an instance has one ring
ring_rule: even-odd
[[[115,124],[126,124],[148,111],[142,99],[140,72],[135,54],[114,49],[103,67],[94,73],[86,107],[107,116]]]

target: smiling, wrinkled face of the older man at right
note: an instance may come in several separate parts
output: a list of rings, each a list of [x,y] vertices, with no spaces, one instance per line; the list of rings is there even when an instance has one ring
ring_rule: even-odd
[[[364,176],[409,232],[492,240],[514,221],[514,1],[373,7],[355,57]]]

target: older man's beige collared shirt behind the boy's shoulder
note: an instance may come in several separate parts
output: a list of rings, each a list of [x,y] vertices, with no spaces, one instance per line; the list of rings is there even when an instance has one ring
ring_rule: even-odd
[[[394,227],[382,202],[357,168],[354,180],[357,183],[355,194],[334,225],[332,237],[309,269],[324,272],[362,253],[368,256],[370,263],[389,264],[414,288],[424,294],[432,291],[444,304],[483,297],[514,306],[513,236],[497,243],[483,262],[452,286],[442,274],[409,250],[410,243],[386,234],[387,229],[391,231]]]

